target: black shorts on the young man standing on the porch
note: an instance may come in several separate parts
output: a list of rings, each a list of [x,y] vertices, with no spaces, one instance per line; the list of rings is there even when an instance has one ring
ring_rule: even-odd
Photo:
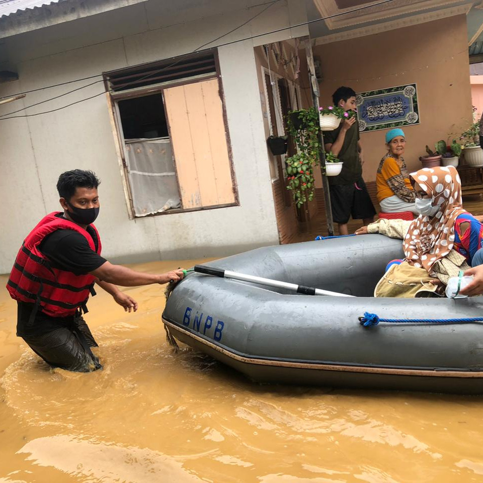
[[[376,214],[366,184],[359,178],[351,185],[330,185],[332,218],[334,223],[345,224],[352,218],[372,218]]]

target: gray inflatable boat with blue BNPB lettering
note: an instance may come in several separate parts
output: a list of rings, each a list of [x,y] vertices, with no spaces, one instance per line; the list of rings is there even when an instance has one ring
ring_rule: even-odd
[[[385,323],[480,317],[483,297],[374,298],[401,241],[378,234],[264,247],[210,262],[215,269],[355,297],[190,273],[163,312],[171,336],[255,381],[483,393],[483,322]]]

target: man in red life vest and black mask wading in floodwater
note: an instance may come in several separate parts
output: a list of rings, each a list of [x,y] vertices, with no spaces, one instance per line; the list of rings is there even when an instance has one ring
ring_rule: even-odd
[[[183,270],[163,274],[136,272],[101,256],[101,238],[93,222],[99,214],[100,180],[92,171],[62,173],[60,205],[42,218],[19,250],[7,290],[17,300],[17,336],[45,362],[69,371],[102,368],[91,347],[98,347],[82,313],[97,284],[125,311],[137,302],[116,285],[132,287],[177,282]]]

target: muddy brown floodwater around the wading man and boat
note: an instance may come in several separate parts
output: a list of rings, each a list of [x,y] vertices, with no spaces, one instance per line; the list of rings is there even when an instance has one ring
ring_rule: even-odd
[[[164,272],[200,261],[132,267]],[[164,287],[98,290],[103,371],[50,369],[15,335],[0,277],[0,482],[483,481],[483,397],[260,385],[161,323]]]

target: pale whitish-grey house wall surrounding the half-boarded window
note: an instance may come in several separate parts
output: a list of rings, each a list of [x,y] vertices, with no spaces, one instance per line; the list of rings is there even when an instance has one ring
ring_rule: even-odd
[[[255,7],[247,8],[252,4]],[[172,4],[151,0],[9,37],[0,50],[0,70],[7,65],[15,68],[19,80],[0,85],[0,96],[191,52],[262,8],[258,2],[235,0],[196,5],[188,0]],[[303,12],[302,0],[279,2],[217,44],[303,22]],[[306,35],[306,29],[288,29],[218,49],[240,206],[129,220],[102,82],[28,113],[95,96],[90,100],[50,114],[3,120],[0,273],[10,270],[35,223],[59,209],[57,178],[74,168],[92,169],[102,180],[96,224],[103,254],[111,261],[222,256],[278,243],[254,47],[300,35]],[[100,79],[31,92],[21,101],[0,106],[0,115]]]

